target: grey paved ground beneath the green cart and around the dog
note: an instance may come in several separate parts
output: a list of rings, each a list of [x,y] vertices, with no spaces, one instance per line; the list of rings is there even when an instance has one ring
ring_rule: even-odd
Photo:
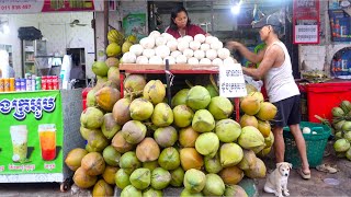
[[[304,181],[301,176],[292,171],[288,178],[288,189],[291,196],[351,196],[351,162],[346,159],[337,159],[333,154],[324,159],[324,163],[336,164],[339,172],[328,174],[312,170],[312,179]],[[268,169],[274,167],[272,159],[267,159]],[[336,178],[339,185],[328,185],[325,178]],[[256,179],[259,196],[273,196],[265,194],[262,188],[264,179]],[[87,193],[72,195],[71,192],[60,193],[59,184],[0,184],[1,197],[19,197],[19,196],[87,196]],[[173,193],[174,194],[174,193]]]

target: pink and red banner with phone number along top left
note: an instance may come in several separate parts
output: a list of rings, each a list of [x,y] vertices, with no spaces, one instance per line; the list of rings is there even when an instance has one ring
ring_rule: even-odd
[[[0,13],[94,11],[93,0],[0,0]]]

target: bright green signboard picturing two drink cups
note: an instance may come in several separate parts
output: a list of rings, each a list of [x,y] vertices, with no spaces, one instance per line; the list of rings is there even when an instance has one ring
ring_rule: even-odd
[[[0,174],[63,172],[59,91],[0,94]]]

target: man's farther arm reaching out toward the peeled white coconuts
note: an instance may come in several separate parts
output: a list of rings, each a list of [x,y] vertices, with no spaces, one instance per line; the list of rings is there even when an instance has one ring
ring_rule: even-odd
[[[260,50],[258,54],[250,51],[246,46],[238,42],[229,42],[226,47],[228,49],[237,49],[239,53],[249,61],[258,63],[261,62],[265,53],[265,47]]]

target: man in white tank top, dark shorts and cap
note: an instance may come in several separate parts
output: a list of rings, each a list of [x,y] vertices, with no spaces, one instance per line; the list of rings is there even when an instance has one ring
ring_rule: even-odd
[[[283,127],[290,127],[302,159],[302,167],[298,173],[303,178],[310,178],[309,164],[306,154],[306,143],[299,128],[299,91],[294,81],[292,63],[285,45],[279,39],[278,34],[281,22],[278,15],[268,15],[252,25],[260,28],[260,37],[267,47],[258,54],[251,53],[242,44],[227,43],[227,48],[237,49],[249,61],[258,63],[259,68],[242,67],[244,73],[254,79],[263,79],[269,100],[273,103],[278,113],[274,118],[274,152],[276,163],[284,162],[285,144]]]

